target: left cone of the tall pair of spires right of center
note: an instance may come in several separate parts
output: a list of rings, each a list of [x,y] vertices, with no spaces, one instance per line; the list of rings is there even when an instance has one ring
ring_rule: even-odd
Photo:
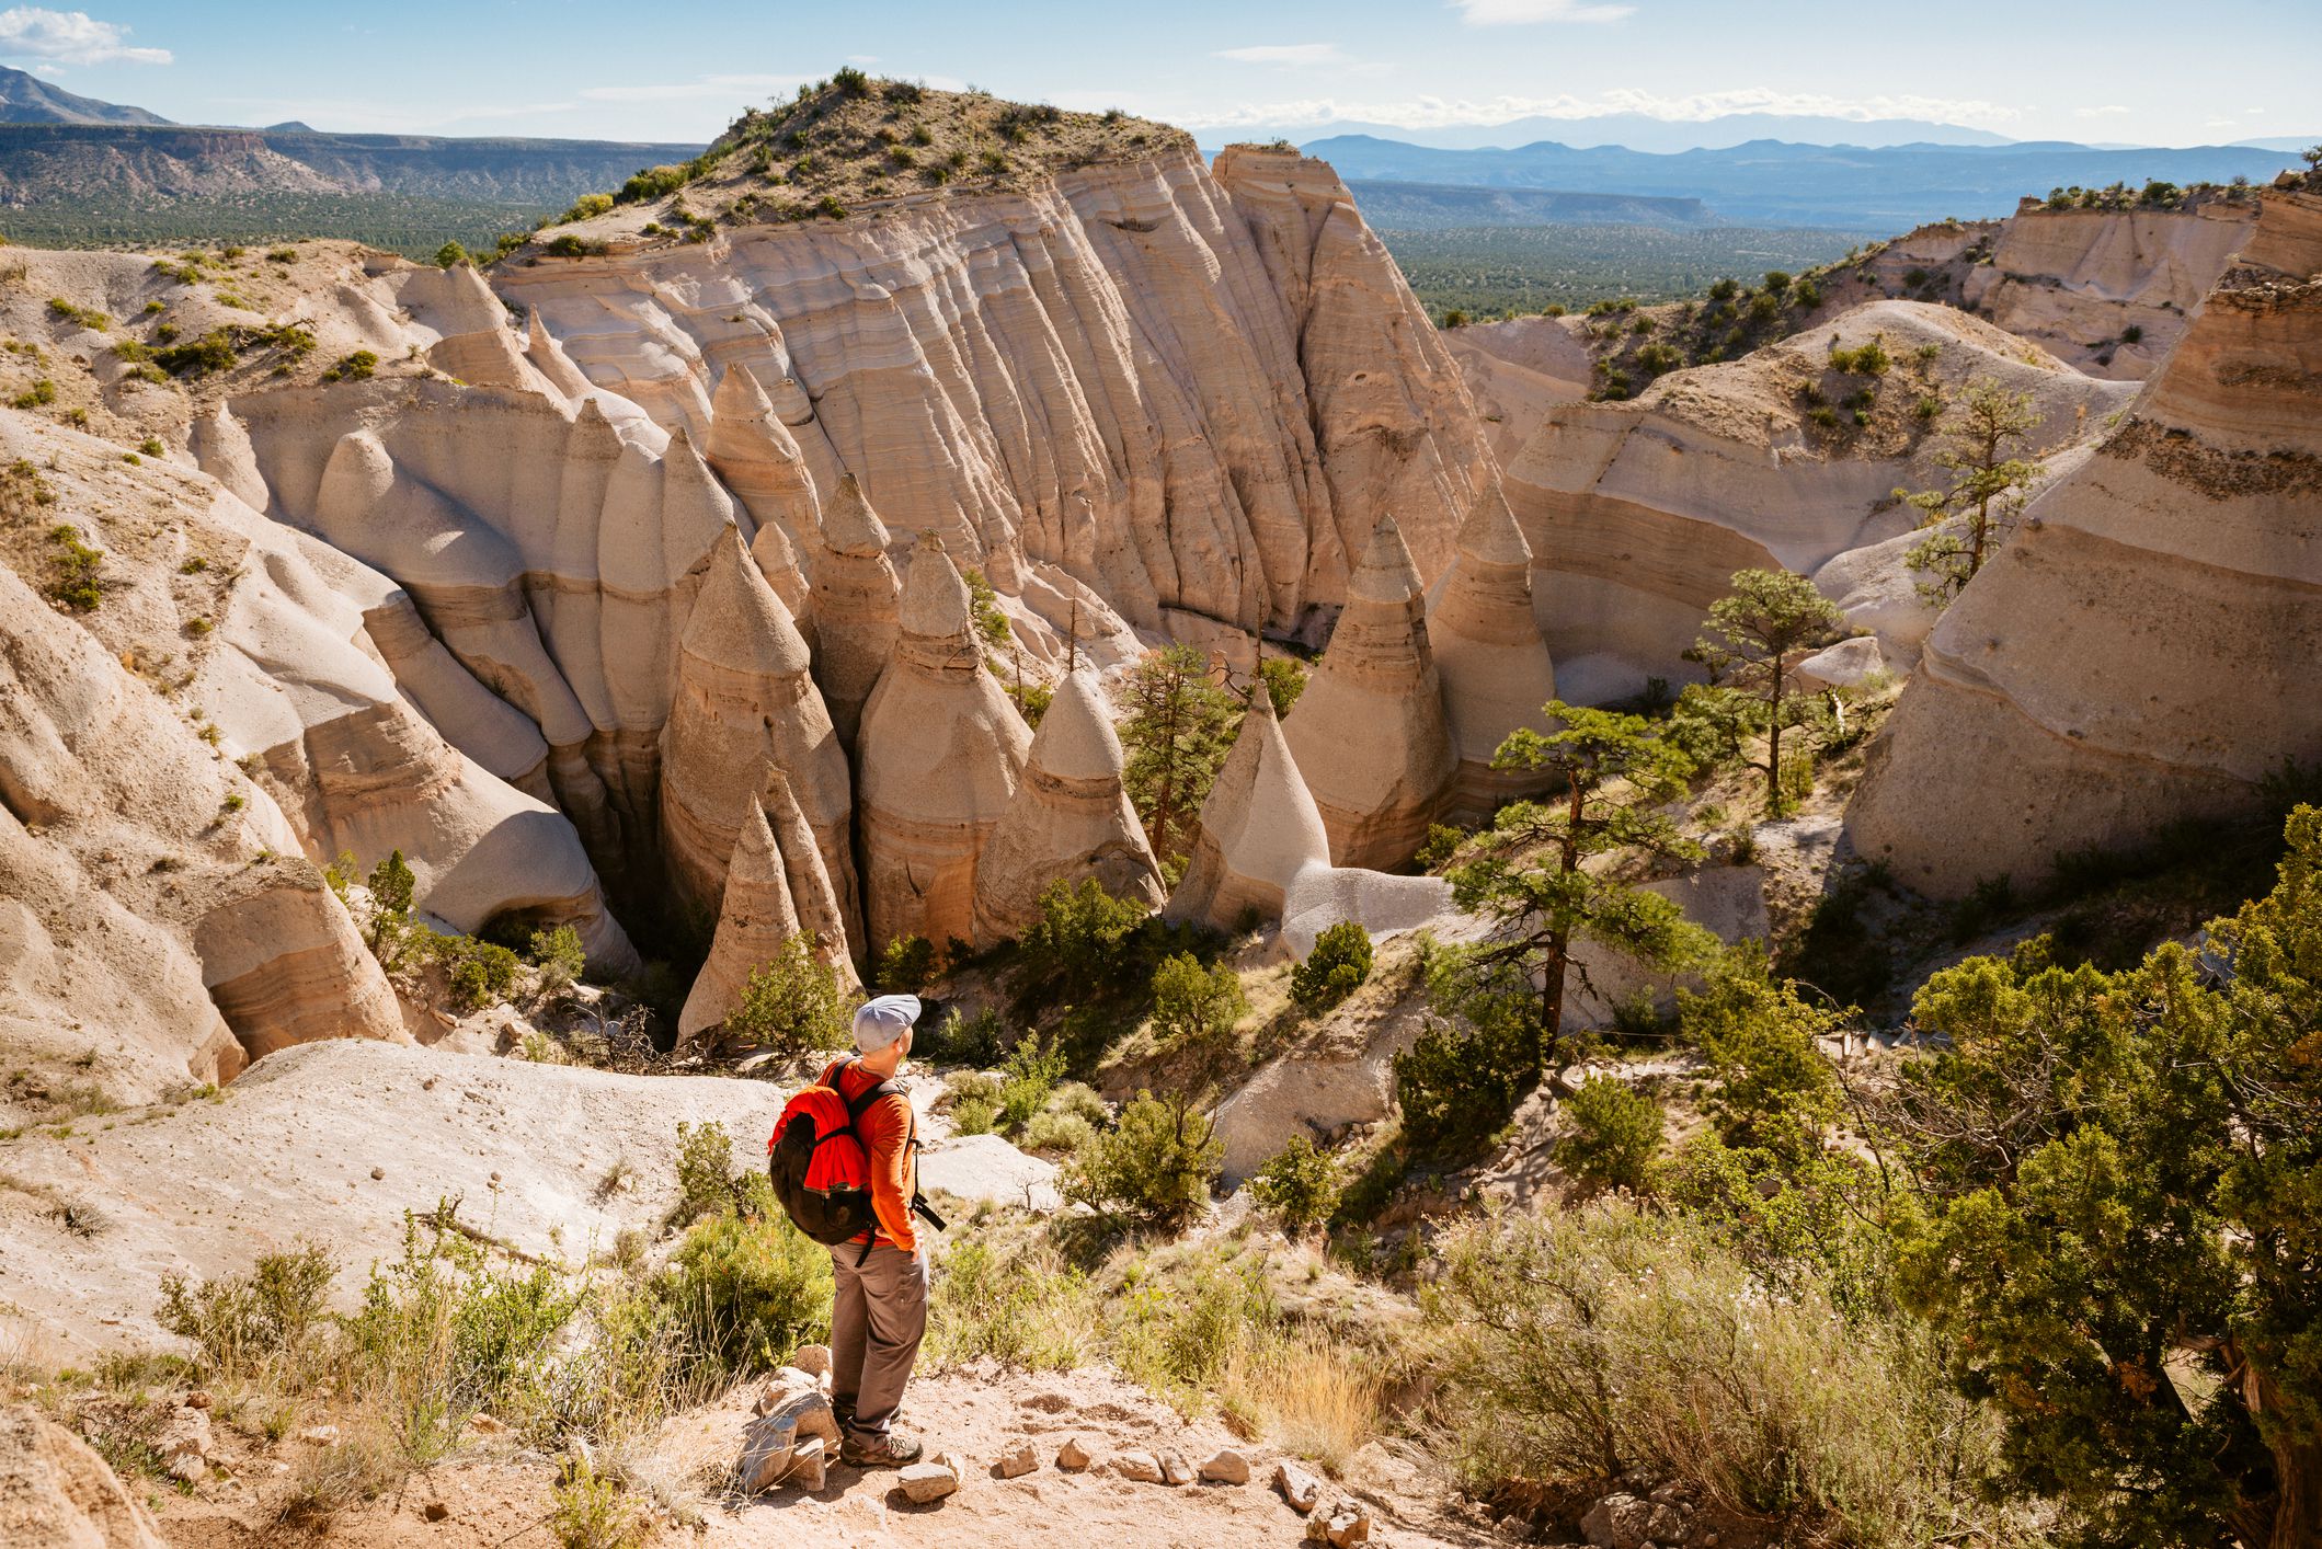
[[[1337,866],[1409,862],[1458,773],[1421,608],[1419,569],[1396,518],[1382,516],[1331,648],[1284,725]]]

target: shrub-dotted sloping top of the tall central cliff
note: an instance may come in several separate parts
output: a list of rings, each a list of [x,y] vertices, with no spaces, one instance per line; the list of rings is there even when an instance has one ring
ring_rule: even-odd
[[[690,163],[641,167],[618,190],[585,195],[564,223],[666,200],[643,235],[701,242],[720,221],[843,218],[866,202],[1022,188],[1054,172],[1173,149],[1191,151],[1194,137],[1119,109],[1070,114],[975,88],[880,81],[850,67],[801,86],[789,102],[752,107]],[[548,251],[578,255],[590,246],[564,232],[548,237]]]

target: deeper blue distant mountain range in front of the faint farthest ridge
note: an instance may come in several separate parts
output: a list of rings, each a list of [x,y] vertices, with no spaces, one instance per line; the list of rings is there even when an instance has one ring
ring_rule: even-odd
[[[1437,151],[1372,135],[1340,135],[1303,149],[1328,160],[1340,176],[1370,183],[1688,197],[1723,221],[1848,230],[1904,230],[1944,216],[2006,216],[2027,193],[2074,183],[2227,183],[2234,176],[2262,183],[2299,160],[2287,151],[2245,146],[2097,151],[2069,142],[1878,149],[1751,142],[1653,156],[1553,142],[1514,151]]]

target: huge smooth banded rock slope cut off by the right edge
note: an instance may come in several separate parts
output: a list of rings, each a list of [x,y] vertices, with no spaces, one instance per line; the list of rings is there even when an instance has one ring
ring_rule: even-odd
[[[2022,885],[2322,759],[2317,276],[2322,197],[2269,190],[2146,397],[1927,636],[1848,808],[1862,855]]]

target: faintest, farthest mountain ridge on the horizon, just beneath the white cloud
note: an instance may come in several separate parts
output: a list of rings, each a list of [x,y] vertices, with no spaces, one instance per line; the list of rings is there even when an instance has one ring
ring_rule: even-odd
[[[1990,130],[1969,130],[1957,123],[1932,123],[1927,118],[1823,118],[1811,114],[1723,114],[1718,118],[1653,118],[1649,114],[1598,114],[1593,118],[1512,118],[1507,123],[1451,123],[1435,130],[1405,130],[1391,123],[1363,123],[1358,118],[1333,118],[1328,123],[1291,125],[1240,125],[1196,128],[1194,139],[1205,149],[1219,149],[1238,139],[1337,139],[1344,135],[1368,135],[1393,139],[1430,151],[1491,151],[1528,146],[1539,139],[1556,144],[1628,146],[1630,151],[1721,151],[1753,139],[1788,139],[1795,144],[1834,146],[2004,146],[2013,144]]]

